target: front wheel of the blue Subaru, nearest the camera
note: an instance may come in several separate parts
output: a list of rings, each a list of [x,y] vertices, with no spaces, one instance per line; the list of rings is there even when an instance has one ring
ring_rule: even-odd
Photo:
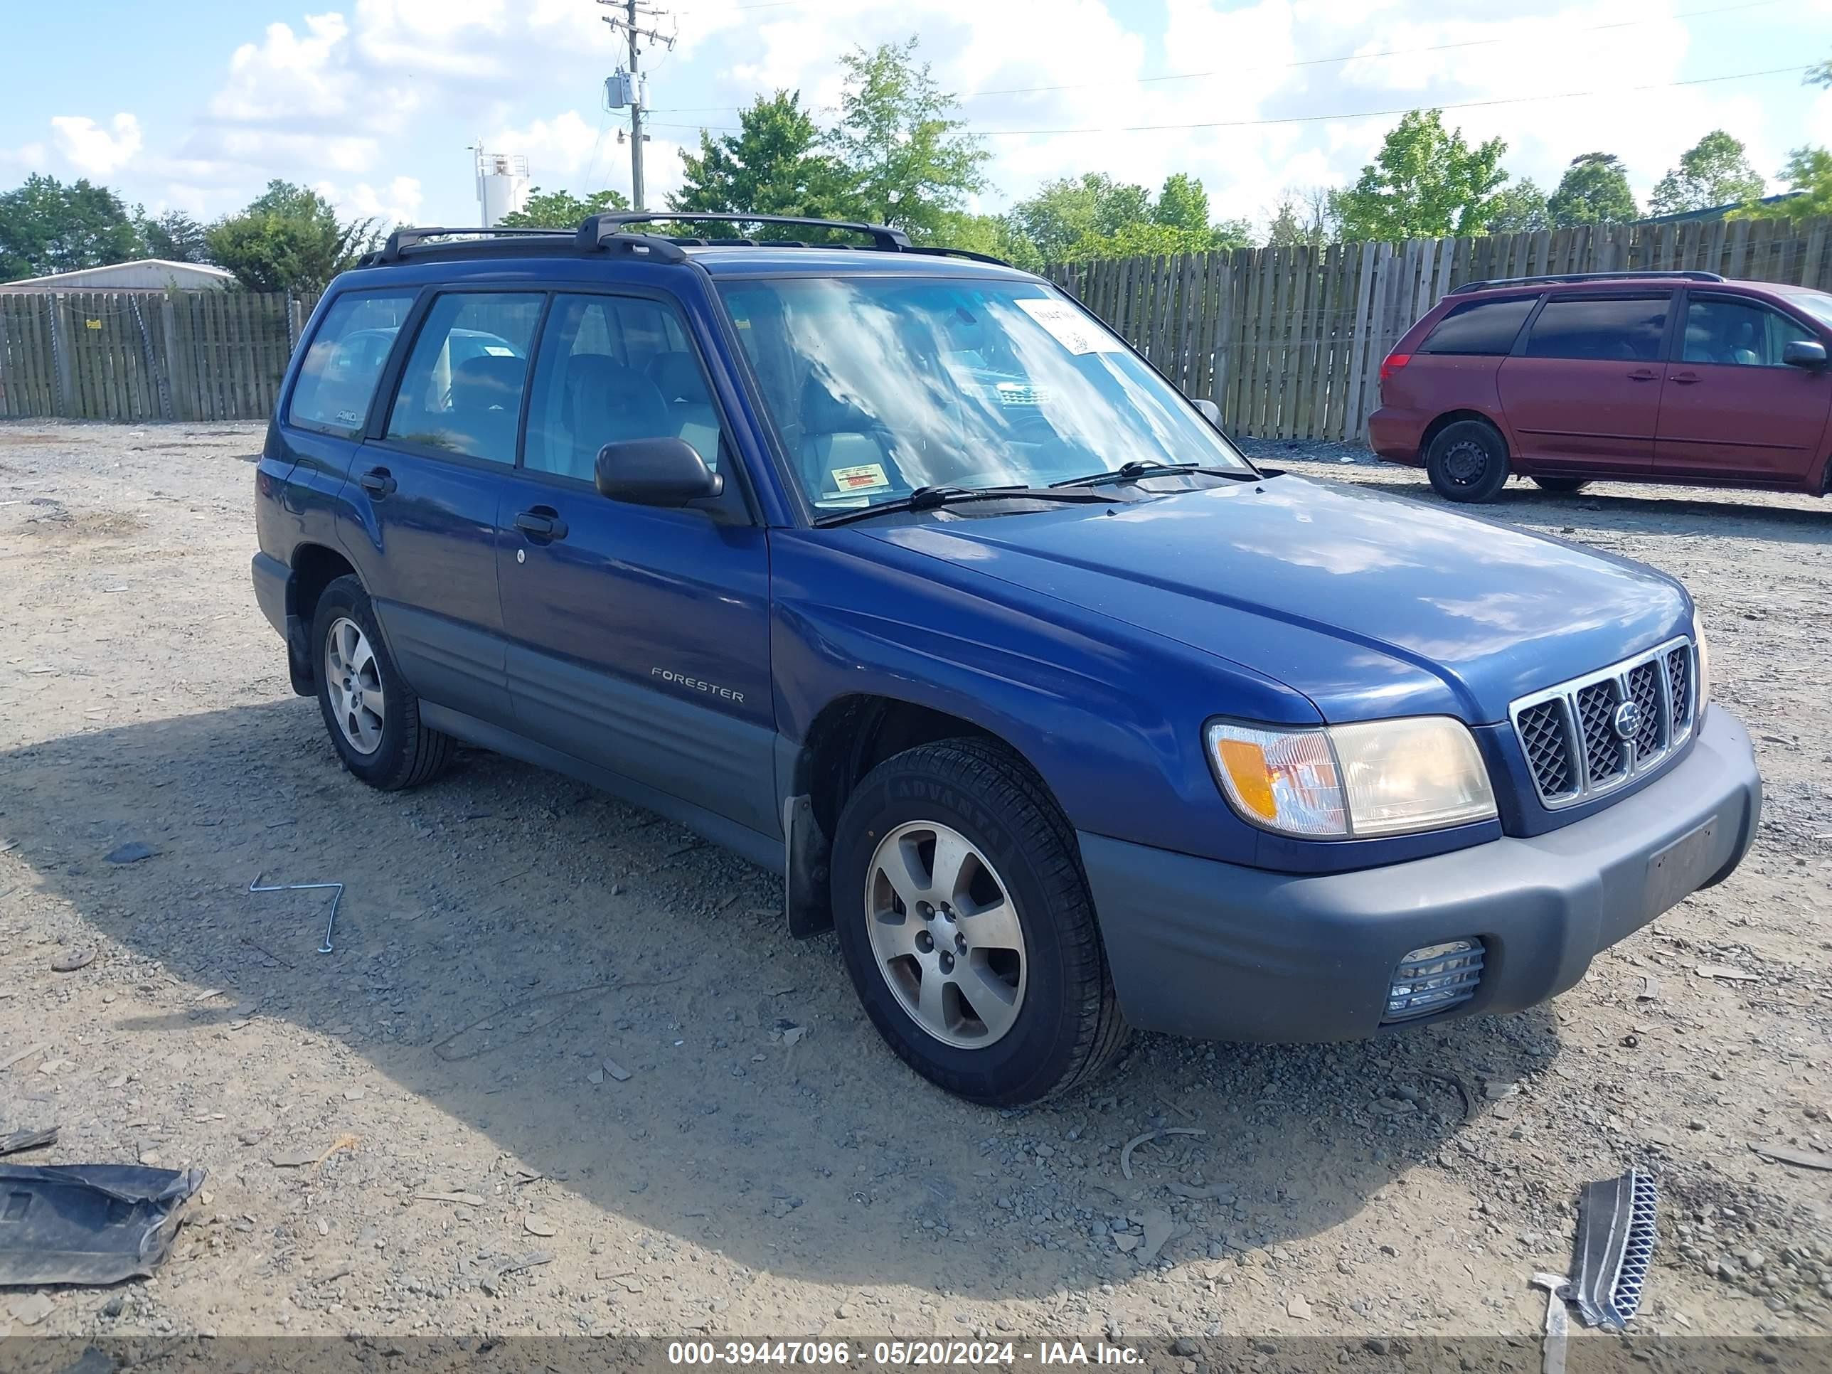
[[[832,887],[865,1013],[931,1083],[1019,1107],[1125,1046],[1075,834],[1009,751],[942,740],[874,768],[841,810]]]

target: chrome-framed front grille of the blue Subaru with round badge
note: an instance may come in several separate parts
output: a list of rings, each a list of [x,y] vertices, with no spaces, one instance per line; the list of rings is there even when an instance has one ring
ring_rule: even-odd
[[[1691,639],[1673,639],[1515,702],[1510,716],[1539,801],[1572,806],[1671,757],[1693,731],[1696,674]]]

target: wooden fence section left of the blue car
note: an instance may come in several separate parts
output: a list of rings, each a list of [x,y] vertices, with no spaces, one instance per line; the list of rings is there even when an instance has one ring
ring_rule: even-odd
[[[266,420],[311,300],[0,289],[0,418]]]

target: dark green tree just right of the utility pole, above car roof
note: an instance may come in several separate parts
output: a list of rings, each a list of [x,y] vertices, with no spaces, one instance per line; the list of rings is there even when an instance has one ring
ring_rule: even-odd
[[[682,152],[685,183],[669,209],[707,214],[857,214],[846,169],[821,150],[824,134],[801,92],[758,95],[738,114],[738,132],[700,132],[700,152]],[[709,227],[707,233],[714,233]],[[735,233],[735,231],[724,231]]]

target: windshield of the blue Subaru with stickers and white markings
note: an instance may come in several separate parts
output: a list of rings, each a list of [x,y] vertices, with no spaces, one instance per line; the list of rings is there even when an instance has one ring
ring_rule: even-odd
[[[1123,463],[1251,467],[1176,390],[1039,282],[720,286],[795,480],[819,509],[916,487],[1044,487]]]

